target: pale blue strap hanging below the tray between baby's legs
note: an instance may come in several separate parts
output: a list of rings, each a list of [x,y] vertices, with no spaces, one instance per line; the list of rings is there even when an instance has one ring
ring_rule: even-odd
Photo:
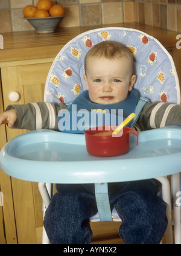
[[[113,221],[109,204],[107,183],[95,184],[95,198],[97,202],[98,214],[101,222]]]

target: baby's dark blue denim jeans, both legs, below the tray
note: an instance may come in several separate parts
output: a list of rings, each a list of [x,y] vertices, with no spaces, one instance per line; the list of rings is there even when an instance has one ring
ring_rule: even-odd
[[[160,183],[110,183],[109,200],[121,217],[119,235],[124,243],[157,244],[167,228],[166,205],[157,192]],[[90,243],[89,217],[97,213],[94,184],[57,184],[45,213],[44,226],[51,243]]]

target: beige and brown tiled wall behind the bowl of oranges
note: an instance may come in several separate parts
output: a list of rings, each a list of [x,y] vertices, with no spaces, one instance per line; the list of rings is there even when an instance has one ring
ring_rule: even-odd
[[[22,10],[38,0],[0,0],[0,33],[33,30]],[[181,32],[181,0],[52,0],[65,7],[61,27],[140,22]]]

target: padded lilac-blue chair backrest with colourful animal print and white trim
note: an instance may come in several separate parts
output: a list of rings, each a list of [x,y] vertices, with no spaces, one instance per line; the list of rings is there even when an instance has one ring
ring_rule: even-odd
[[[100,28],[82,33],[68,42],[52,63],[45,85],[44,101],[69,102],[86,90],[84,57],[90,48],[114,40],[127,46],[134,56],[139,95],[151,102],[180,104],[179,80],[168,51],[154,37],[129,28]]]

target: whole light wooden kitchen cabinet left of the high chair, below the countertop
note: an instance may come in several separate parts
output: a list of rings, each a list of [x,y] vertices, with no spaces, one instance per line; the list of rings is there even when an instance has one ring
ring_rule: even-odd
[[[27,65],[26,62],[6,63],[1,67],[2,91],[4,107],[8,104],[25,104],[43,101],[44,87],[49,68],[53,59],[38,60],[39,63]],[[17,65],[17,63],[15,63]],[[11,91],[19,93],[19,100],[11,102],[8,95]],[[1,112],[2,95],[1,95]],[[6,132],[5,132],[6,129]],[[1,127],[1,148],[6,141],[27,130],[9,129]],[[6,140],[7,138],[7,140]],[[26,168],[26,167],[25,167]],[[4,214],[5,239],[7,243],[40,243],[42,238],[42,199],[36,182],[21,181],[10,178],[1,171],[1,191],[4,194],[4,206],[0,216]],[[3,211],[2,211],[3,210]],[[15,221],[16,220],[16,221]],[[16,224],[15,224],[16,223]],[[0,226],[0,227],[1,227]],[[4,233],[4,229],[0,229]],[[17,235],[16,235],[17,234]],[[4,243],[4,234],[0,235],[0,243]]]

